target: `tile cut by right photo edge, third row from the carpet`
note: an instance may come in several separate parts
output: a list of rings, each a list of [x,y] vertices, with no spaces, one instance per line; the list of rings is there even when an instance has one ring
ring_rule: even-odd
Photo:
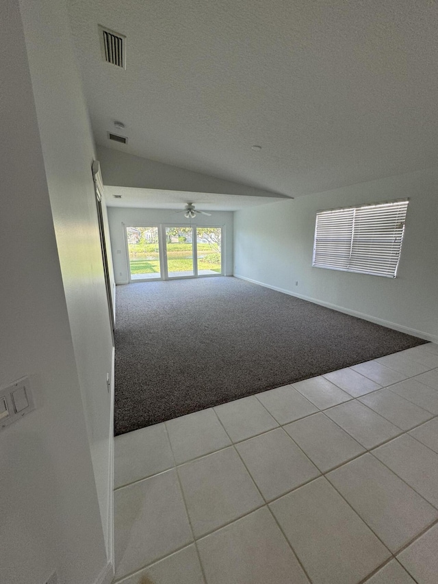
[[[372,451],[387,467],[438,507],[438,455],[408,434]]]

